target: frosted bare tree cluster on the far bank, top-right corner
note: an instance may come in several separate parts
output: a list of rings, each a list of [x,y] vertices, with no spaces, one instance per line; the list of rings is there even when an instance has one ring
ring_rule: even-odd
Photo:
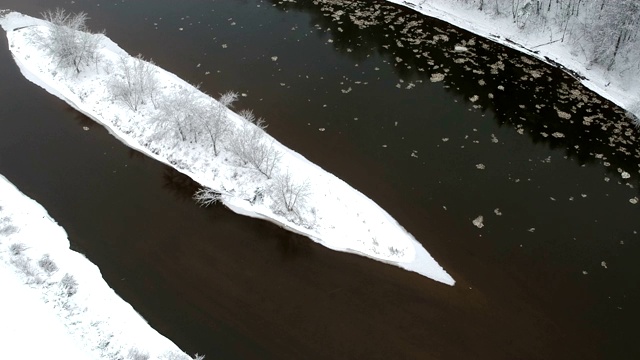
[[[640,75],[640,1],[458,0],[480,11],[504,14],[524,31],[542,31],[549,42],[567,42],[587,65],[628,77]],[[544,45],[544,44],[543,44]],[[624,75],[622,74],[624,73]]]

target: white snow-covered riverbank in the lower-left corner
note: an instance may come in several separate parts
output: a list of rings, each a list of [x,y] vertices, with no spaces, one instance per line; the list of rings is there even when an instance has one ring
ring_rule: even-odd
[[[14,254],[13,244],[24,250]],[[56,271],[38,265],[45,254]],[[65,274],[77,281],[72,296],[60,286]],[[0,284],[0,359],[116,359],[132,348],[150,359],[190,359],[69,249],[66,232],[41,205],[1,175]]]

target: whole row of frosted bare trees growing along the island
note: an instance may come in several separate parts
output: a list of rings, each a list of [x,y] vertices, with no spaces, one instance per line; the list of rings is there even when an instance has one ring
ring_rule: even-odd
[[[88,32],[85,13],[69,14],[56,9],[45,12],[43,17],[49,22],[49,31],[37,35],[37,41],[57,69],[79,74],[92,64],[97,68],[100,37]],[[111,64],[108,68],[111,69]],[[213,156],[227,151],[238,166],[253,169],[266,178],[274,212],[295,223],[311,226],[304,214],[311,194],[309,182],[298,181],[288,169],[280,170],[282,153],[266,136],[264,120],[256,118],[251,111],[239,112],[239,122],[229,118],[229,108],[238,99],[237,93],[225,93],[214,101],[193,87],[162,92],[156,67],[140,55],[121,57],[107,87],[114,101],[134,112],[144,105],[153,105],[150,119],[154,140],[173,146],[202,144],[211,148]],[[222,196],[220,192],[203,189],[194,198],[208,205]]]

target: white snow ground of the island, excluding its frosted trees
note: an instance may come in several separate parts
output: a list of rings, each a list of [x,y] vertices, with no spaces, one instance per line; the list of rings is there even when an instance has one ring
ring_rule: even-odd
[[[233,211],[272,221],[330,249],[366,256],[448,285],[455,284],[424,247],[375,202],[269,135],[265,135],[269,144],[282,155],[278,171],[291,174],[296,181],[309,183],[310,194],[305,199],[308,206],[299,221],[274,210],[275,202],[267,196],[273,186],[272,179],[239,165],[228,151],[222,150],[214,156],[203,144],[158,139],[153,129],[157,110],[151,104],[133,111],[114,102],[109,93],[114,68],[123,57],[125,61],[131,58],[105,36],[96,35],[102,39],[100,60],[95,67],[77,75],[65,75],[33,41],[35,33],[46,33],[42,20],[10,13],[1,22],[16,64],[27,79],[104,125],[128,146],[222,193],[221,201]],[[154,68],[165,94],[188,90],[205,96],[174,74]],[[216,103],[208,96],[206,101]],[[236,130],[246,123],[231,111],[227,117]]]

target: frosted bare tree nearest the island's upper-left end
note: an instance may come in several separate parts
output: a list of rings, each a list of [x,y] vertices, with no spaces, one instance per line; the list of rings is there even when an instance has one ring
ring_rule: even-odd
[[[79,74],[83,67],[97,62],[100,37],[89,32],[86,13],[72,14],[57,8],[42,13],[42,17],[49,22],[48,33],[40,34],[36,41],[58,68],[74,69]]]

